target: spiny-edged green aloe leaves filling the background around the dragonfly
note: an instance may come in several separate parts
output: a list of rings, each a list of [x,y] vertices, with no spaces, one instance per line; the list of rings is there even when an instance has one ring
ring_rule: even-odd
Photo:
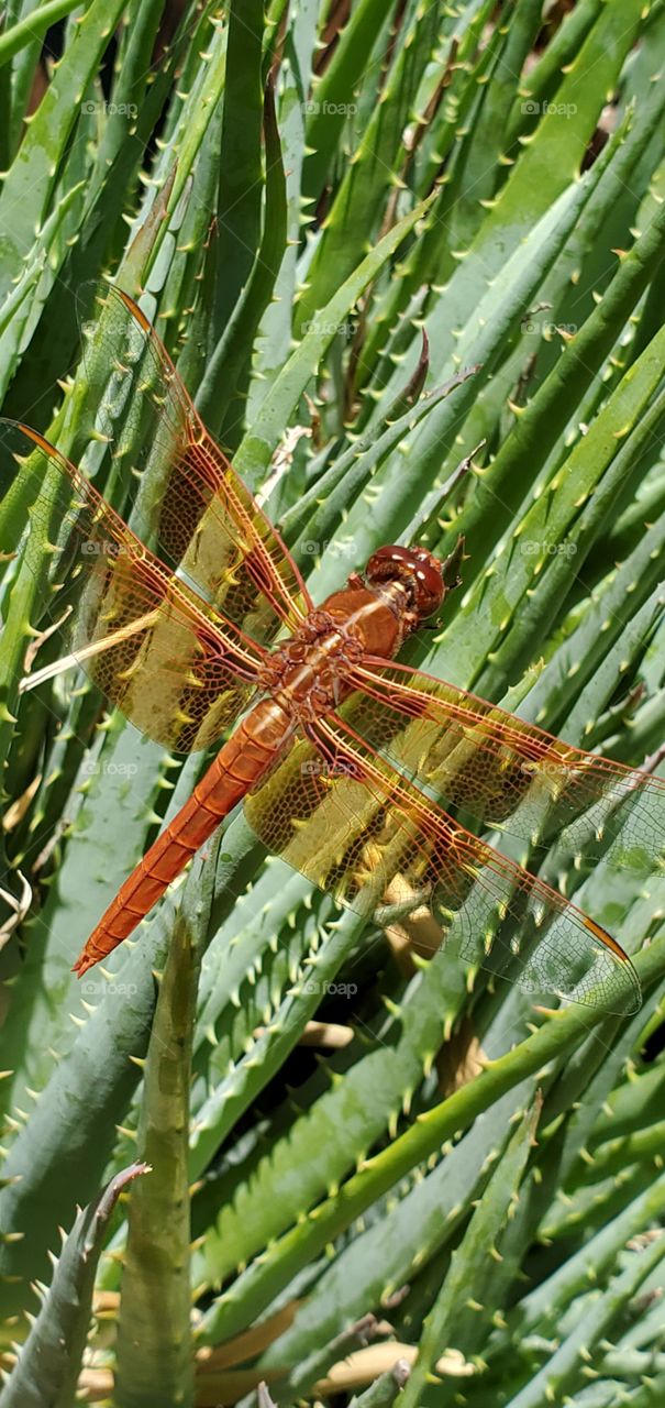
[[[464,535],[415,663],[662,772],[664,41],[661,0],[10,4],[4,415],[146,517],[112,277],[315,600]],[[0,1408],[662,1402],[662,869],[492,838],[620,938],[624,1018],[405,966],[242,815],[77,983],[209,756],[20,689],[59,524],[4,441]]]

